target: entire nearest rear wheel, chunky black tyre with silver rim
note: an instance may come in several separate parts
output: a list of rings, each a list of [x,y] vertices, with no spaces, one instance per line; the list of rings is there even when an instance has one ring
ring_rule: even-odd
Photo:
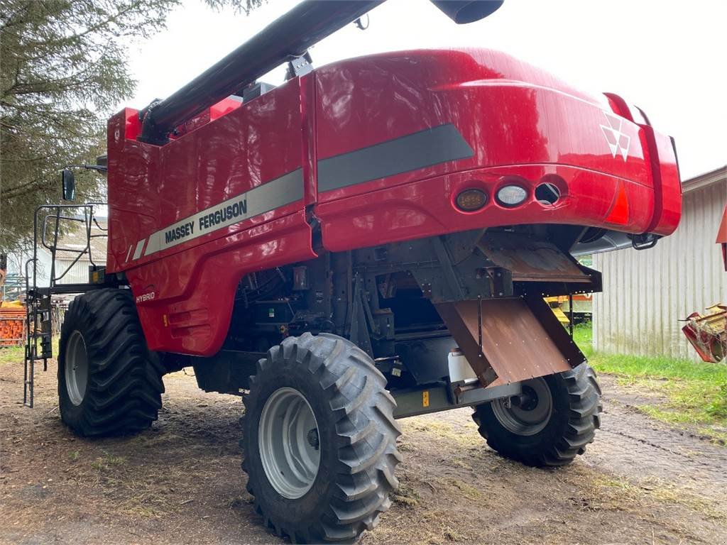
[[[401,431],[385,387],[371,358],[335,335],[289,337],[257,364],[242,467],[278,536],[353,542],[389,509]]]

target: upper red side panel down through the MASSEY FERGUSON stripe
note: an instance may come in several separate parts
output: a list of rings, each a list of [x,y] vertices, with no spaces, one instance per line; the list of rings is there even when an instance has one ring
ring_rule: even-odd
[[[111,248],[118,270],[200,246],[303,207],[297,78],[161,147],[124,138],[123,132],[116,140],[118,125],[119,120],[112,118],[108,178],[110,214],[116,223],[126,226],[121,235],[114,236]],[[270,182],[278,187],[261,188]],[[234,203],[237,198],[246,198],[249,208],[241,219],[199,223],[199,212],[213,213],[220,203]],[[194,224],[190,226],[193,232],[166,239],[167,230],[187,222]]]

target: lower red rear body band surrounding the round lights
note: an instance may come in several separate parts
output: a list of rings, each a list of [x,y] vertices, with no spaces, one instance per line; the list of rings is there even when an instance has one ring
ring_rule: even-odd
[[[497,187],[503,185],[507,174],[517,174],[521,179],[534,180],[523,183],[534,187],[537,180],[552,182],[552,174],[558,176],[556,185],[563,197],[555,206],[543,206],[530,199],[516,210],[499,206],[490,200],[486,206],[465,214],[454,206],[454,196],[471,187],[486,190],[494,195]],[[611,211],[614,195],[622,187],[629,206],[628,220],[623,225],[608,224],[606,218]],[[578,198],[573,198],[577,195]],[[322,203],[316,209],[321,218],[324,243],[327,249],[342,251],[385,242],[405,241],[441,233],[515,225],[525,223],[573,223],[593,225],[639,233],[642,225],[651,220],[654,209],[652,191],[638,184],[629,184],[623,179],[598,172],[558,165],[507,166],[496,169],[475,169],[457,172],[419,182],[371,191],[364,195],[341,198]],[[567,218],[568,221],[565,221]]]

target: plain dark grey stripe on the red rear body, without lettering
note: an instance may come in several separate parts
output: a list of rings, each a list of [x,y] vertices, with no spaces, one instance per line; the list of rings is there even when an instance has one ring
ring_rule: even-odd
[[[318,161],[318,191],[330,191],[475,154],[453,124]]]

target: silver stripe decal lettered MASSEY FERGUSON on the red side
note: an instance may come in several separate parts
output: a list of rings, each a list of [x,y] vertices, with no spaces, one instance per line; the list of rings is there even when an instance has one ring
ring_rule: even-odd
[[[152,233],[144,255],[193,241],[302,198],[303,173],[297,169]],[[135,252],[134,259],[137,259]]]

